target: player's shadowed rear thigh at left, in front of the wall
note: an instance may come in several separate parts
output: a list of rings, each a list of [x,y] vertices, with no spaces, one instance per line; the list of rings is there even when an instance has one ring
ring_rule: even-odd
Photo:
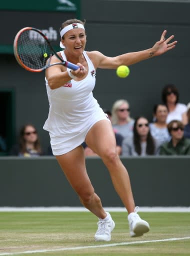
[[[57,155],[56,159],[67,180],[77,193],[81,193],[84,190],[93,190],[86,172],[84,150],[82,146],[78,146],[68,153]]]

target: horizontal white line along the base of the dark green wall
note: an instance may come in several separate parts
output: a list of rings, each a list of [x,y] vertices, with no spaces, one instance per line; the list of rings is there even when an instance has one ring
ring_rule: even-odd
[[[105,211],[118,211],[126,212],[124,207],[104,207]],[[10,207],[10,206],[1,206],[1,211],[89,211],[84,207],[72,207],[72,206],[48,206],[48,207]],[[174,207],[149,207],[149,206],[140,206],[140,212],[190,212],[190,207],[184,206],[174,206]]]

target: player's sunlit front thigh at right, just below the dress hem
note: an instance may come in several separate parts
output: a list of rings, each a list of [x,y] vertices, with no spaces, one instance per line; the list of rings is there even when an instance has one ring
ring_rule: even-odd
[[[116,152],[115,134],[108,120],[96,122],[88,131],[85,141],[99,156],[106,152]]]

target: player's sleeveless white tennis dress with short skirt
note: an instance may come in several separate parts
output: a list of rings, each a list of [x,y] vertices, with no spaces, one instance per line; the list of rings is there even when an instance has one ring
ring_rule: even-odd
[[[64,51],[62,58],[66,60]],[[53,155],[61,155],[80,145],[88,130],[99,120],[108,120],[93,97],[95,68],[83,51],[88,74],[80,81],[71,79],[57,89],[50,89],[45,78],[49,101],[48,118],[43,129],[49,131]]]

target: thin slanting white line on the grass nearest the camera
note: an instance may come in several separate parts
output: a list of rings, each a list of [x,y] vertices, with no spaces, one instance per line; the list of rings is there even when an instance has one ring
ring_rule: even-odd
[[[99,244],[99,245],[89,245],[89,246],[76,246],[76,247],[66,247],[66,248],[57,248],[57,249],[44,249],[44,250],[26,250],[21,252],[2,252],[0,256],[4,255],[18,255],[18,254],[31,254],[36,252],[49,252],[49,251],[63,251],[63,250],[79,250],[79,249],[89,249],[89,248],[100,248],[100,247],[111,247],[118,245],[130,245],[130,244],[140,244],[140,243],[148,243],[148,242],[165,242],[165,241],[176,241],[176,240],[184,240],[190,239],[190,236],[187,237],[178,237],[178,238],[166,238],[160,240],[147,240],[147,241],[133,241],[133,242],[118,242],[118,243],[107,243],[107,244]]]

